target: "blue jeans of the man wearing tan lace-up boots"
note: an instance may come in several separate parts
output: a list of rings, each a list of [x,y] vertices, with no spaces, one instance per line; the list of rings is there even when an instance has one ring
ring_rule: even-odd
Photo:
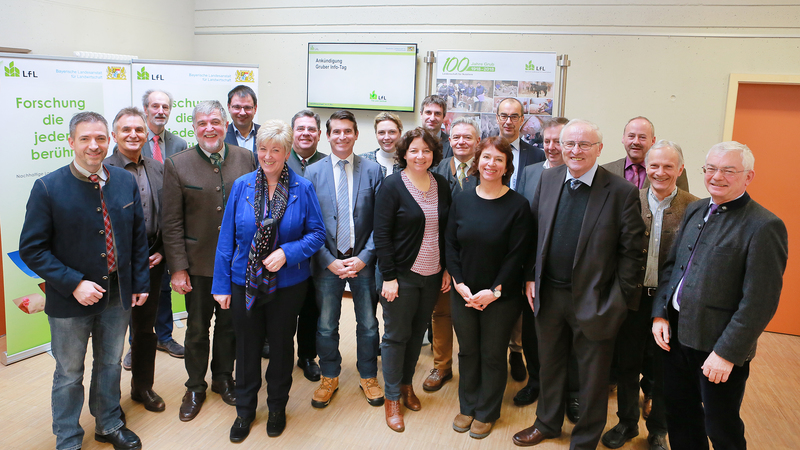
[[[340,279],[330,270],[314,277],[319,306],[317,322],[317,353],[322,375],[339,376],[342,355],[339,353],[339,318],[342,314],[342,295],[345,283],[350,284],[356,311],[356,355],[361,378],[378,376],[378,319],[375,317],[375,266],[367,265],[355,278]]]

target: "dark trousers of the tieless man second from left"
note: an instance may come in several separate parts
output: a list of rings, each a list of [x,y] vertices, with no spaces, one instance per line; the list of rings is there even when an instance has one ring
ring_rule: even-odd
[[[131,388],[135,390],[153,388],[158,341],[154,327],[165,267],[162,262],[150,269],[150,293],[147,301],[131,310]]]

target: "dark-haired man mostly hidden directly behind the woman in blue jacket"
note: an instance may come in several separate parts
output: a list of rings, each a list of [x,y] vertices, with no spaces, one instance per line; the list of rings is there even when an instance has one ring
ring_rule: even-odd
[[[305,176],[309,165],[323,159],[326,155],[317,151],[320,136],[319,114],[304,109],[292,117],[292,152],[286,163],[295,173]],[[303,369],[303,376],[309,381],[319,381],[321,371],[317,364],[317,321],[319,308],[317,308],[317,295],[314,288],[314,279],[308,279],[306,298],[303,308],[297,318],[297,367]],[[264,348],[267,349],[266,343]],[[264,353],[264,352],[262,352]],[[268,354],[269,351],[266,350]]]

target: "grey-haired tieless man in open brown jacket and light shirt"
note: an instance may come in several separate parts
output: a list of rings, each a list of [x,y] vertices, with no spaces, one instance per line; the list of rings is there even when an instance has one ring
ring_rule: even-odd
[[[650,339],[650,314],[653,296],[658,287],[659,269],[664,265],[672,247],[675,233],[689,203],[697,197],[676,186],[683,173],[683,152],[678,144],[661,140],[655,143],[644,158],[650,187],[639,191],[642,219],[648,233],[647,265],[641,300],[632,304],[628,316],[617,334],[617,416],[619,423],[603,435],[603,445],[622,447],[639,435],[639,374],[642,372],[645,351],[655,347]],[[655,349],[653,349],[655,350]],[[667,449],[667,422],[664,417],[664,380],[661,352],[652,352],[654,380],[652,409],[646,418],[650,450]]]

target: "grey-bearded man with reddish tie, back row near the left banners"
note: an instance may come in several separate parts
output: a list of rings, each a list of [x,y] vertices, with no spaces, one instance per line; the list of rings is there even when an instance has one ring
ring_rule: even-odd
[[[164,91],[150,89],[142,95],[142,106],[147,119],[147,140],[142,147],[142,156],[153,158],[159,163],[175,153],[186,150],[186,141],[167,130],[167,122],[172,112],[172,94]],[[168,264],[164,262],[166,267]],[[161,280],[161,295],[158,301],[156,314],[156,348],[168,353],[174,358],[183,358],[184,348],[172,338],[172,295],[169,286],[169,271],[165,270]],[[125,355],[123,365],[129,363]],[[125,367],[130,367],[126,365]]]

